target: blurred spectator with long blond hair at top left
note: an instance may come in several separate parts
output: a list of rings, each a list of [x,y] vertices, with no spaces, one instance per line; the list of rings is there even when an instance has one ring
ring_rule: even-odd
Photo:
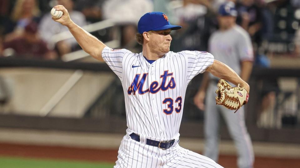
[[[31,21],[39,23],[40,10],[37,6],[36,0],[17,0],[10,20],[6,21],[4,25],[4,41],[10,41],[22,35],[25,26]]]

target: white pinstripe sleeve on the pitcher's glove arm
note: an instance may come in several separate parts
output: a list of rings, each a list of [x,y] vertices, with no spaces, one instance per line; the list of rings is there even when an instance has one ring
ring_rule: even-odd
[[[187,81],[190,82],[199,73],[205,72],[211,66],[214,57],[204,51],[182,51],[187,61]]]

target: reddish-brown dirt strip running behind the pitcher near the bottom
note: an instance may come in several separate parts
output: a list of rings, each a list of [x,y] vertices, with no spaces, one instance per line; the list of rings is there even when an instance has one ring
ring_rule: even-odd
[[[53,147],[0,143],[0,156],[47,158],[77,161],[103,161],[114,163],[118,150],[86,149],[78,147]],[[220,156],[219,163],[228,168],[236,168],[236,156]],[[255,157],[255,168],[298,168],[300,159]]]

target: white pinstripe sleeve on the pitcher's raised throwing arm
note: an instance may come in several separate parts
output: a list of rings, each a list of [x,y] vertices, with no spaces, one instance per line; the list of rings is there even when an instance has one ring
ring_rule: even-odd
[[[125,54],[131,53],[127,49],[111,49],[105,47],[102,50],[102,58],[107,63],[108,67],[113,70],[113,72],[119,77],[122,78],[123,68],[122,61]]]

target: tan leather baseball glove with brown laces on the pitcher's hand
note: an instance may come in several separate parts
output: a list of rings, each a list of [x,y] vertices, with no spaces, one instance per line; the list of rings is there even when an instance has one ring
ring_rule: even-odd
[[[246,89],[240,87],[240,84],[238,84],[237,87],[232,87],[226,79],[220,79],[217,86],[216,103],[218,105],[223,105],[237,112],[242,105],[248,102],[249,93]]]

